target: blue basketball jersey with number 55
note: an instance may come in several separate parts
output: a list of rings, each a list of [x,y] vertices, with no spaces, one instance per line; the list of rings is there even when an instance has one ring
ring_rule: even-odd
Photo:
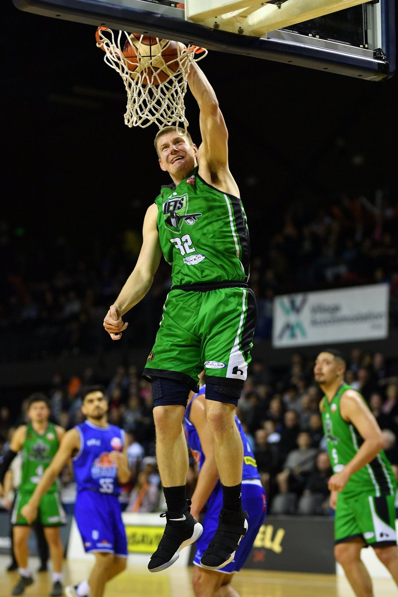
[[[124,431],[116,425],[98,427],[89,421],[76,425],[80,436],[80,449],[73,458],[73,470],[78,492],[89,489],[118,496],[118,467],[110,460],[109,453],[122,451]]]

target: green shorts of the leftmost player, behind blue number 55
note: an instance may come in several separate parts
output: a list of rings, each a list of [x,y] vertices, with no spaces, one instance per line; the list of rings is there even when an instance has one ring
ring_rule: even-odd
[[[27,504],[31,497],[31,493],[18,491],[13,512],[11,513],[12,525],[22,525],[24,527],[29,525],[26,518],[21,515],[21,509]],[[41,521],[44,527],[59,527],[60,525],[66,524],[66,513],[61,504],[61,498],[58,491],[44,494],[39,501],[37,519]]]

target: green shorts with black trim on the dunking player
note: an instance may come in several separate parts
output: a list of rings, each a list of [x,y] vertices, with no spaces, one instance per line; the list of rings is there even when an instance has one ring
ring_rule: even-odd
[[[143,376],[182,381],[196,392],[204,369],[207,378],[242,386],[256,318],[257,303],[249,288],[171,290]]]

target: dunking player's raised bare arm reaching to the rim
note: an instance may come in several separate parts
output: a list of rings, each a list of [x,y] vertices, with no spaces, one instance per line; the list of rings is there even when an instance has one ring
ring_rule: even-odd
[[[228,131],[214,90],[196,63],[190,65],[187,82],[200,110],[199,174],[216,189],[239,197],[228,166]]]

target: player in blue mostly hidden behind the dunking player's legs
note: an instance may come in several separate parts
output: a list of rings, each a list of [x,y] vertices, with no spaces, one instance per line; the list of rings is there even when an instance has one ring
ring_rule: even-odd
[[[192,496],[191,513],[196,519],[206,504],[203,519],[203,534],[196,543],[196,554],[193,559],[193,590],[195,597],[239,597],[231,586],[235,572],[239,572],[245,563],[258,530],[266,515],[266,494],[261,485],[260,475],[251,447],[237,417],[235,423],[239,430],[243,444],[243,472],[242,472],[242,504],[249,516],[249,528],[240,542],[239,549],[230,556],[231,561],[220,570],[206,570],[200,564],[203,555],[215,529],[218,515],[223,514],[223,492],[218,479],[217,466],[214,458],[213,440],[206,417],[206,386],[202,386],[198,394],[189,401],[185,411],[186,438],[193,457],[199,466],[199,477]],[[226,554],[227,555],[227,554]]]

